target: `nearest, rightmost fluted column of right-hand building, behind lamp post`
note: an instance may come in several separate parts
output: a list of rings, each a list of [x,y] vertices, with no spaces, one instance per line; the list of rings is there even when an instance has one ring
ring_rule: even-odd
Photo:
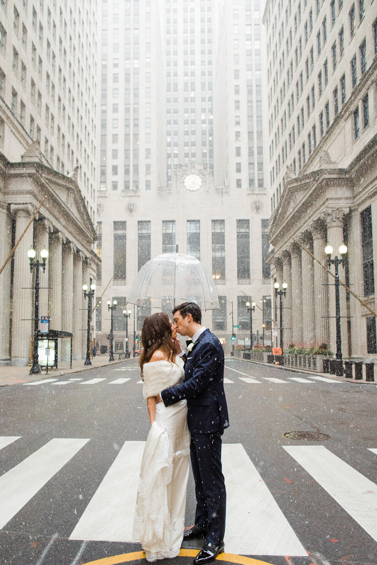
[[[333,253],[331,258],[340,258],[339,246],[343,244],[343,220],[348,210],[331,210],[327,217],[327,242],[332,246]],[[331,272],[335,274],[335,267],[331,266]],[[339,266],[339,280],[345,282],[344,268]],[[328,275],[328,295],[329,295],[329,331],[330,331],[330,349],[336,352],[336,327],[335,327],[335,287],[334,279]],[[347,338],[347,321],[346,321],[346,294],[344,286],[339,288],[340,298],[340,334],[341,334],[341,351],[343,357],[348,355],[348,338]]]

